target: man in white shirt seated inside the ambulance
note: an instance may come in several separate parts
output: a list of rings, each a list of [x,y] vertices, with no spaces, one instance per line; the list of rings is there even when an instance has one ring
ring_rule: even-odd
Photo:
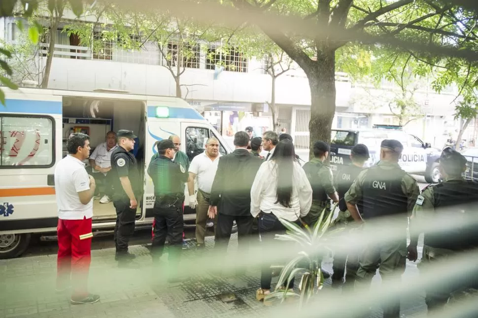
[[[116,143],[116,132],[108,131],[106,141],[96,146],[90,156],[91,172],[96,181],[103,183],[104,193],[100,203],[109,203],[113,197],[113,182],[111,180],[111,154],[118,147]],[[98,192],[98,191],[97,191]],[[95,193],[96,194],[96,193]]]

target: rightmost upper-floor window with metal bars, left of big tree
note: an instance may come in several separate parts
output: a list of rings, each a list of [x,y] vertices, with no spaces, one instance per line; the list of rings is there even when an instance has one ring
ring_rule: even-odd
[[[231,72],[247,72],[247,58],[236,48],[209,47],[206,52],[206,69],[223,66]]]

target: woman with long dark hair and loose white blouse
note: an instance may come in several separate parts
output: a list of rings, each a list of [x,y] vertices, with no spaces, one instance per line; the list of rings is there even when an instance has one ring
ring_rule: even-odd
[[[299,223],[312,204],[312,188],[306,173],[295,160],[293,143],[279,141],[269,161],[264,162],[256,174],[251,188],[251,214],[259,217],[261,244],[267,247],[286,244],[274,240],[275,234],[285,234],[286,228],[278,218]],[[271,292],[272,269],[265,264],[261,269],[261,288],[256,292],[262,300]],[[294,287],[294,280],[289,288]]]

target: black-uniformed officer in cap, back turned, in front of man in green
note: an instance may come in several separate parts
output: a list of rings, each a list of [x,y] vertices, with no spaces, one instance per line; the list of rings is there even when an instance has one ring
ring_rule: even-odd
[[[163,254],[166,237],[169,238],[169,260],[171,269],[177,264],[182,247],[184,183],[188,172],[172,161],[175,146],[171,140],[158,143],[159,156],[149,163],[148,174],[153,180],[154,195],[154,237],[151,248],[153,262],[157,263]]]

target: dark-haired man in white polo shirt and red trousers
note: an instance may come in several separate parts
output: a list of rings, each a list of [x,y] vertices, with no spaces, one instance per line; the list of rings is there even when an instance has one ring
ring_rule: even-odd
[[[92,304],[99,295],[88,292],[91,262],[91,219],[95,179],[85,170],[83,160],[90,155],[90,137],[73,133],[67,141],[69,155],[55,167],[58,206],[57,291],[71,285],[71,304]]]

